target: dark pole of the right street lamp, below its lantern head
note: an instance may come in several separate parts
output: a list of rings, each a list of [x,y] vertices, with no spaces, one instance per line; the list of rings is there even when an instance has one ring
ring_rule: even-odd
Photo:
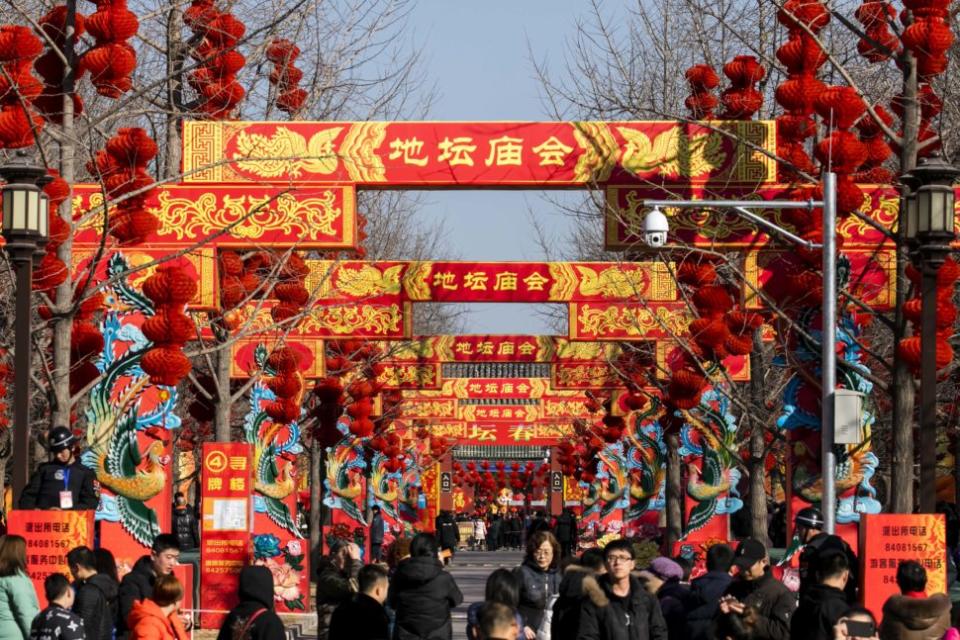
[[[937,267],[921,266],[920,319],[920,513],[937,504]]]

